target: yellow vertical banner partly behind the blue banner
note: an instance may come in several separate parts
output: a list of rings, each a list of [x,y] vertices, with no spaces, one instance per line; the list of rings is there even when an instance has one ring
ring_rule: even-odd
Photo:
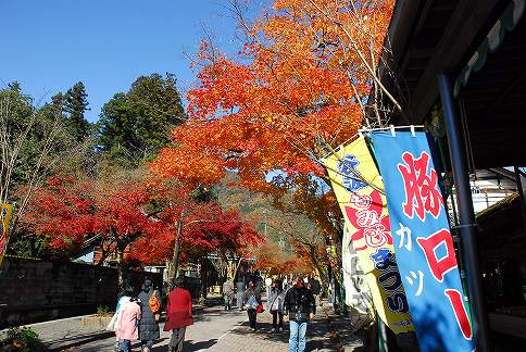
[[[394,257],[384,183],[365,139],[360,137],[340,148],[324,165],[378,316],[394,334],[413,331]]]

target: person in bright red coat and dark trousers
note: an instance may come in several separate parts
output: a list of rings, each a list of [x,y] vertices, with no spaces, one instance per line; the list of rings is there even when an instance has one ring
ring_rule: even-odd
[[[183,288],[183,282],[184,277],[178,277],[175,280],[175,289],[170,292],[167,298],[164,331],[172,330],[172,339],[168,343],[171,352],[183,351],[186,327],[193,324],[190,292]]]

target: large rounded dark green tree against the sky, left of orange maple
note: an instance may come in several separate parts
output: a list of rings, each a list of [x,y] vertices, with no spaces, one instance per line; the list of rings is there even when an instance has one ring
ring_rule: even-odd
[[[175,76],[140,76],[102,108],[98,144],[112,160],[138,163],[168,144],[170,129],[184,120]]]

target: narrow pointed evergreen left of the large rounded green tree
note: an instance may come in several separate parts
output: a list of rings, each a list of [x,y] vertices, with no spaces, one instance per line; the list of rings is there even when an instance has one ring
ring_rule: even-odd
[[[68,113],[67,125],[77,141],[88,137],[91,129],[91,125],[84,116],[84,113],[89,110],[87,97],[88,93],[82,81],[76,83],[63,96],[64,111]],[[61,97],[55,96],[54,98],[60,99]]]

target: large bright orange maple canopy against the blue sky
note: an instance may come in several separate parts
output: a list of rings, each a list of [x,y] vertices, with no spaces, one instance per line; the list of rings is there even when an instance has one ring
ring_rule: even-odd
[[[189,118],[152,168],[193,184],[235,169],[254,189],[264,189],[274,169],[322,175],[313,160],[324,144],[345,142],[362,125],[361,97],[372,88],[362,58],[379,55],[392,1],[353,11],[348,4],[276,0],[246,27],[236,59],[203,41]]]

